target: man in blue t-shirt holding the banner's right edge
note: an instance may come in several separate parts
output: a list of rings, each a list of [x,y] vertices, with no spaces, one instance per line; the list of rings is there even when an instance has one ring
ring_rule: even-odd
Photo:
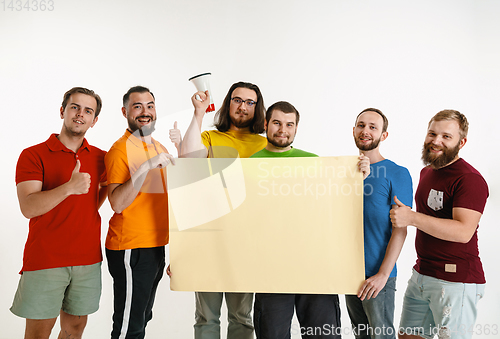
[[[393,228],[390,210],[394,196],[412,206],[411,176],[404,167],[385,159],[379,144],[387,136],[388,120],[376,108],[363,110],[353,128],[360,154],[370,158],[364,181],[364,242],[366,280],[358,295],[346,295],[347,310],[357,339],[394,339],[396,260],[403,248],[406,228]]]

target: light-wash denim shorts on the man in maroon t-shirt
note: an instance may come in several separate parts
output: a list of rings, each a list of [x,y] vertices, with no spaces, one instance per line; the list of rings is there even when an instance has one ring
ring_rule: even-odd
[[[423,338],[472,338],[485,284],[449,282],[413,270],[399,332]]]

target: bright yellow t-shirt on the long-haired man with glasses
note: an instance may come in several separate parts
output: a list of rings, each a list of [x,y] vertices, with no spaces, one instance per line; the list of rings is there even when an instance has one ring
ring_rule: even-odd
[[[209,158],[248,158],[252,154],[265,148],[267,139],[250,132],[229,130],[205,131],[201,133],[201,140],[208,149]]]

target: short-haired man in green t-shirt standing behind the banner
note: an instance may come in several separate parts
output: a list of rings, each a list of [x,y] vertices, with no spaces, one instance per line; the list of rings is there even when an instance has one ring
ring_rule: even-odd
[[[267,146],[250,158],[317,157],[316,154],[291,146],[297,133],[299,117],[297,109],[286,101],[271,105],[267,109],[264,122]],[[369,160],[364,157],[360,159],[358,166],[365,174],[370,166]],[[290,338],[294,308],[301,333],[307,332],[309,328],[320,328],[325,331],[315,338],[340,338],[340,306],[337,294],[256,293],[254,327],[257,339]]]

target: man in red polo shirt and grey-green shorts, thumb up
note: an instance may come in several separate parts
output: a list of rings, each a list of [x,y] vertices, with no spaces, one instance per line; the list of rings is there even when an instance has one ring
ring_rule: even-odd
[[[92,90],[67,91],[61,133],[25,149],[17,163],[19,205],[30,222],[11,311],[26,318],[26,339],[49,338],[58,315],[59,338],[80,338],[99,308],[105,152],[84,136],[101,106]]]

